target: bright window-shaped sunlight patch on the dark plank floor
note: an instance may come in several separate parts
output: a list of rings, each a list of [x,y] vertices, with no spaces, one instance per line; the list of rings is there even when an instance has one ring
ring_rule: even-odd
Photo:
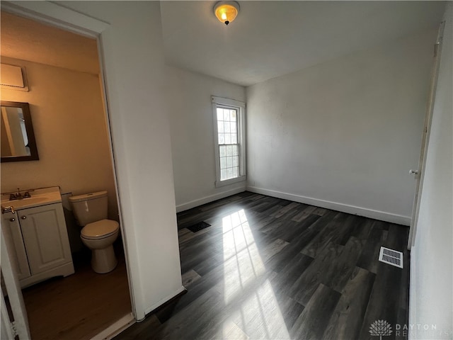
[[[289,339],[244,210],[224,217],[222,227],[225,305],[237,303],[237,299],[249,290],[246,298],[242,297],[238,310],[224,322],[222,339],[230,339],[231,334],[243,335],[241,331],[251,339]]]

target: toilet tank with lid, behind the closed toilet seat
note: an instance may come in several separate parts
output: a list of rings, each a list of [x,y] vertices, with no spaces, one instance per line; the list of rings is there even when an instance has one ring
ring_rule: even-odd
[[[107,191],[71,196],[69,202],[80,226],[107,219]]]

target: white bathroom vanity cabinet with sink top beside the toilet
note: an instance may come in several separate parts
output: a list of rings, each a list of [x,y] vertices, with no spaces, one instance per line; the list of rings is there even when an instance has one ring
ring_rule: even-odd
[[[74,273],[59,188],[37,189],[30,196],[1,196],[1,227],[21,288]]]

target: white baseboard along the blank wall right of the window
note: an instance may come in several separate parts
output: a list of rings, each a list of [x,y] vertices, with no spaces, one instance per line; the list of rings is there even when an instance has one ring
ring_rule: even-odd
[[[341,211],[341,212],[347,212],[348,214],[374,218],[375,220],[396,223],[398,225],[411,225],[411,217],[391,214],[390,212],[361,208],[361,207],[356,207],[355,205],[347,205],[347,204],[343,204],[343,203],[331,202],[329,200],[319,200],[317,198],[299,196],[299,195],[294,195],[292,193],[282,193],[280,191],[273,191],[273,190],[268,190],[268,189],[264,189],[264,188],[257,188],[255,186],[247,186],[247,191],[251,191],[252,193],[260,193],[260,194],[266,195],[266,196],[282,198],[285,200],[292,200],[294,202],[315,205],[316,207],[337,210],[337,211]]]

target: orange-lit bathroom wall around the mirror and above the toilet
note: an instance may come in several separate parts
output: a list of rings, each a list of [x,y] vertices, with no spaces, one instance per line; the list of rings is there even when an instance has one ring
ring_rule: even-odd
[[[30,91],[1,89],[1,100],[29,103],[40,157],[1,163],[1,192],[45,186],[73,195],[107,190],[109,218],[118,220],[98,74],[7,57],[1,62],[26,69]]]

